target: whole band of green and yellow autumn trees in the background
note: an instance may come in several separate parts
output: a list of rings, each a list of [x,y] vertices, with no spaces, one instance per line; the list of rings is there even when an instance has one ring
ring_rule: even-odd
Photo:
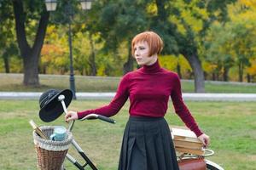
[[[78,2],[72,3],[76,8]],[[66,21],[60,14],[56,11],[49,17],[44,1],[1,0],[0,4],[0,71],[23,69],[25,85],[38,85],[38,73],[67,74]],[[253,82],[255,6],[244,0],[96,1],[90,11],[75,10],[73,15],[79,20],[72,25],[75,72],[121,76],[136,69],[131,38],[152,30],[165,42],[161,64],[180,77],[194,78],[195,92],[204,92],[205,79]]]

